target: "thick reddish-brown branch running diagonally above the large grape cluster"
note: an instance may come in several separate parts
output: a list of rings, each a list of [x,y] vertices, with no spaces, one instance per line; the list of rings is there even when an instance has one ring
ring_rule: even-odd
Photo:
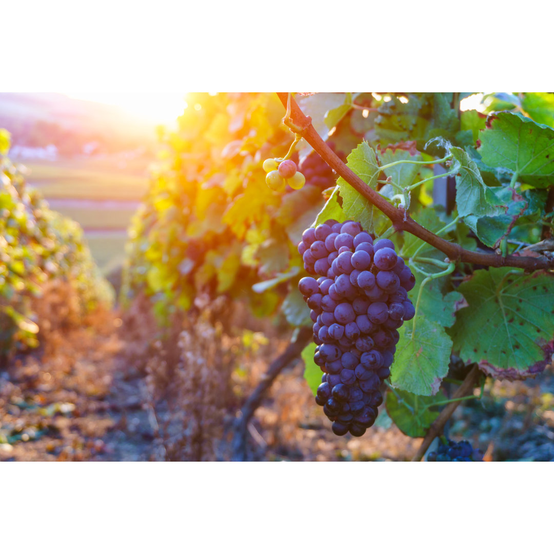
[[[331,150],[325,141],[319,136],[314,126],[311,124],[311,118],[307,117],[296,103],[296,100],[290,96],[290,93],[276,93],[279,100],[286,108],[290,101],[289,121],[293,124],[291,129],[302,135],[309,145],[321,156],[321,158],[340,175],[347,183],[356,189],[364,198],[373,204],[377,209],[383,212],[392,222],[397,231],[406,231],[414,236],[424,240],[432,247],[447,255],[450,261],[461,261],[470,264],[479,264],[492,266],[495,268],[512,267],[521,268],[527,271],[537,269],[553,269],[554,259],[548,259],[545,256],[530,257],[509,254],[503,257],[500,254],[471,252],[462,248],[459,244],[449,242],[438,235],[430,232],[408,216],[403,208],[392,206],[385,198],[371,187],[368,187],[360,177],[356,175],[346,164]]]

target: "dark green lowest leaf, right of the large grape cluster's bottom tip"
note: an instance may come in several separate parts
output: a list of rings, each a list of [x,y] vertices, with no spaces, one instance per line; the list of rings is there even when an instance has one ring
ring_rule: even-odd
[[[402,433],[408,437],[424,437],[439,416],[438,409],[431,408],[435,403],[446,399],[442,393],[435,396],[417,396],[411,392],[392,389],[387,392],[384,406]]]

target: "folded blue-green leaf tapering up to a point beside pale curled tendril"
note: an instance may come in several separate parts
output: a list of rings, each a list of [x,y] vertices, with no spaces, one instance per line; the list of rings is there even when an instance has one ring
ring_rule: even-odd
[[[458,165],[456,205],[459,216],[496,216],[501,213],[501,202],[491,194],[490,187],[483,182],[476,163],[464,150],[456,146],[450,147],[450,153]]]

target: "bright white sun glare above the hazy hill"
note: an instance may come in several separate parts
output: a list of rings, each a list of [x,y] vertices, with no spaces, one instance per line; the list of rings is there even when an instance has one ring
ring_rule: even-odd
[[[65,93],[70,98],[120,107],[155,124],[175,122],[187,107],[185,93]]]

